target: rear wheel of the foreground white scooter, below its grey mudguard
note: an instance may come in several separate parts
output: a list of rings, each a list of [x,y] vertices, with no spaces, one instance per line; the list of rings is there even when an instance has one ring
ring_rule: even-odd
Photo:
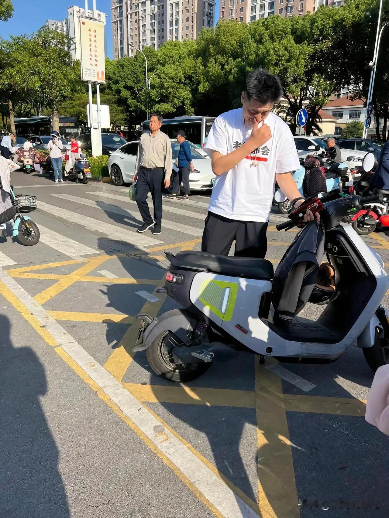
[[[211,363],[199,362],[198,364],[176,364],[173,359],[175,343],[174,333],[165,331],[151,342],[146,350],[148,363],[158,376],[169,381],[183,382],[195,380],[206,372]]]

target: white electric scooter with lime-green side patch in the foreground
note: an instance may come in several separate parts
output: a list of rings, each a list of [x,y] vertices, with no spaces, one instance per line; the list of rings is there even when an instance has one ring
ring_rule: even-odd
[[[356,342],[373,370],[389,363],[389,312],[381,306],[389,277],[380,255],[342,223],[346,215],[381,197],[332,193],[321,203],[315,200],[339,290],[316,321],[294,318],[287,326],[273,322],[273,265],[266,259],[166,252],[171,266],[161,290],[184,308],[158,319],[138,315],[141,327],[133,350],[146,350],[158,375],[182,382],[200,376],[213,361],[236,357],[239,350],[259,354],[261,362],[276,356],[325,363]],[[277,229],[301,226],[303,213],[297,209],[289,218]]]

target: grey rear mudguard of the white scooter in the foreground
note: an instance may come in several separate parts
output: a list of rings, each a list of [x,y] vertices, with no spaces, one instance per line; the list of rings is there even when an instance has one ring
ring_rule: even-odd
[[[141,320],[138,340],[133,347],[134,352],[145,351],[151,343],[165,331],[171,331],[185,344],[189,344],[189,334],[197,325],[196,318],[186,309],[166,311],[158,319],[149,315],[137,315]]]

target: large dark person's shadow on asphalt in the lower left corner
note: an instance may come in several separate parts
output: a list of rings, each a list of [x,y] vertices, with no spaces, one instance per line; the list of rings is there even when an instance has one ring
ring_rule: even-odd
[[[67,518],[59,452],[40,404],[45,369],[30,347],[13,347],[10,332],[0,314],[0,516]]]

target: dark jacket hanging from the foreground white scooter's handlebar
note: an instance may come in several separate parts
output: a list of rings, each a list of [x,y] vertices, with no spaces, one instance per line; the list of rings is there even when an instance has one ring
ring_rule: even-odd
[[[286,250],[273,277],[273,320],[288,323],[307,304],[324,254],[324,228],[305,225]]]

